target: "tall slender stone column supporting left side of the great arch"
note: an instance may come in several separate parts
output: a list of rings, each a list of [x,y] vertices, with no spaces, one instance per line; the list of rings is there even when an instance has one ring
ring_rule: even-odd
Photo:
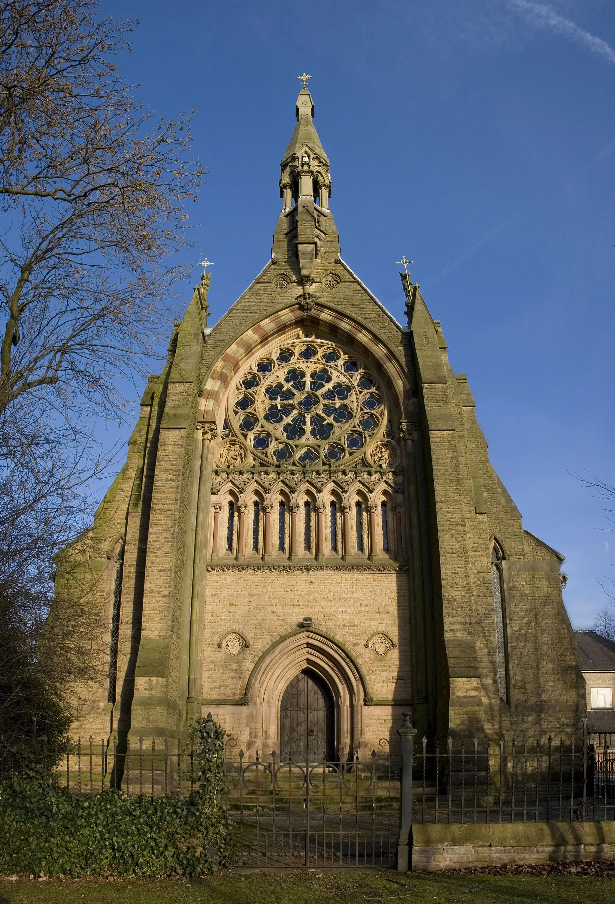
[[[201,463],[196,502],[196,524],[194,541],[194,569],[192,607],[190,614],[190,654],[188,658],[188,718],[198,719],[201,715],[203,695],[203,620],[205,613],[205,561],[207,559],[207,466],[209,447],[217,436],[218,429],[213,421],[197,424],[201,429]]]

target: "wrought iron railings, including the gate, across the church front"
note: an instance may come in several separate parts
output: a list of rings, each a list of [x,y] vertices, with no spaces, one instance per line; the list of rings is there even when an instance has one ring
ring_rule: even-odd
[[[413,731],[409,720],[404,725]],[[234,756],[230,739],[225,759],[229,820],[233,831],[256,826],[262,842],[245,856],[260,857],[274,844],[274,833],[277,856],[279,833],[287,833],[295,848],[303,845],[304,857],[307,848],[310,856],[318,850],[326,852],[318,856],[329,858],[333,851],[338,862],[353,857],[356,862],[358,850],[363,862],[370,857],[388,862],[391,826],[409,799],[407,793],[401,803],[404,763],[406,772],[412,767],[410,816],[415,823],[615,819],[615,733],[584,728],[571,739],[495,742],[473,738],[438,742],[416,739],[412,733],[407,737],[410,746],[402,743],[397,762],[383,742],[372,754],[307,764],[280,759],[275,751],[267,759]],[[68,739],[61,748],[47,749],[40,738],[18,751],[3,746],[0,739],[0,777],[37,763],[58,786],[80,794],[121,788],[128,795],[188,795],[198,782],[194,746],[173,739],[140,738],[123,746],[115,739]],[[336,839],[329,831],[334,810]],[[305,842],[295,833],[299,813],[307,814],[309,823]],[[283,817],[287,825],[281,829]],[[373,835],[369,843],[367,826]],[[378,833],[381,840],[376,843]],[[364,839],[358,849],[357,835]],[[273,848],[267,847],[270,850],[273,856]]]

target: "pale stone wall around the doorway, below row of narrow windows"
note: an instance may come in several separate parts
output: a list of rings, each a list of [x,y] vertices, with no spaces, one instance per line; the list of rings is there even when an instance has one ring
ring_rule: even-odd
[[[210,569],[203,636],[203,711],[213,711],[243,749],[250,749],[250,708],[216,706],[213,701],[239,701],[263,654],[280,640],[276,649],[282,654],[284,638],[297,633],[304,616],[311,617],[313,628],[344,647],[359,665],[367,683],[364,692],[374,700],[389,702],[365,706],[361,700],[362,746],[383,753],[379,740],[396,743],[394,728],[401,723],[402,709],[412,700],[408,575],[404,571],[290,566],[279,570]],[[233,632],[250,644],[236,655],[223,646],[225,636]],[[396,648],[382,656],[365,648],[376,632],[391,637]],[[400,704],[393,707],[393,701]],[[254,702],[251,699],[251,704]]]

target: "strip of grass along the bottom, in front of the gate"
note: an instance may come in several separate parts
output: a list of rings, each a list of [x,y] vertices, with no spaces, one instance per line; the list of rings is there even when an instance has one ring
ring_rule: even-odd
[[[615,904],[615,879],[600,876],[398,875],[394,872],[223,873],[203,880],[0,880],[0,904]]]

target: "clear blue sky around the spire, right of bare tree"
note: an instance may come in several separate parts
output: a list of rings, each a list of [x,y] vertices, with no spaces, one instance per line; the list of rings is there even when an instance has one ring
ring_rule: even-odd
[[[414,261],[491,461],[525,528],[565,554],[564,601],[589,626],[615,578],[604,504],[573,476],[615,483],[613,0],[102,8],[139,20],[123,61],[139,100],[196,108],[210,323],[270,257],[297,75],[312,75],[343,257],[400,320],[396,261]]]

